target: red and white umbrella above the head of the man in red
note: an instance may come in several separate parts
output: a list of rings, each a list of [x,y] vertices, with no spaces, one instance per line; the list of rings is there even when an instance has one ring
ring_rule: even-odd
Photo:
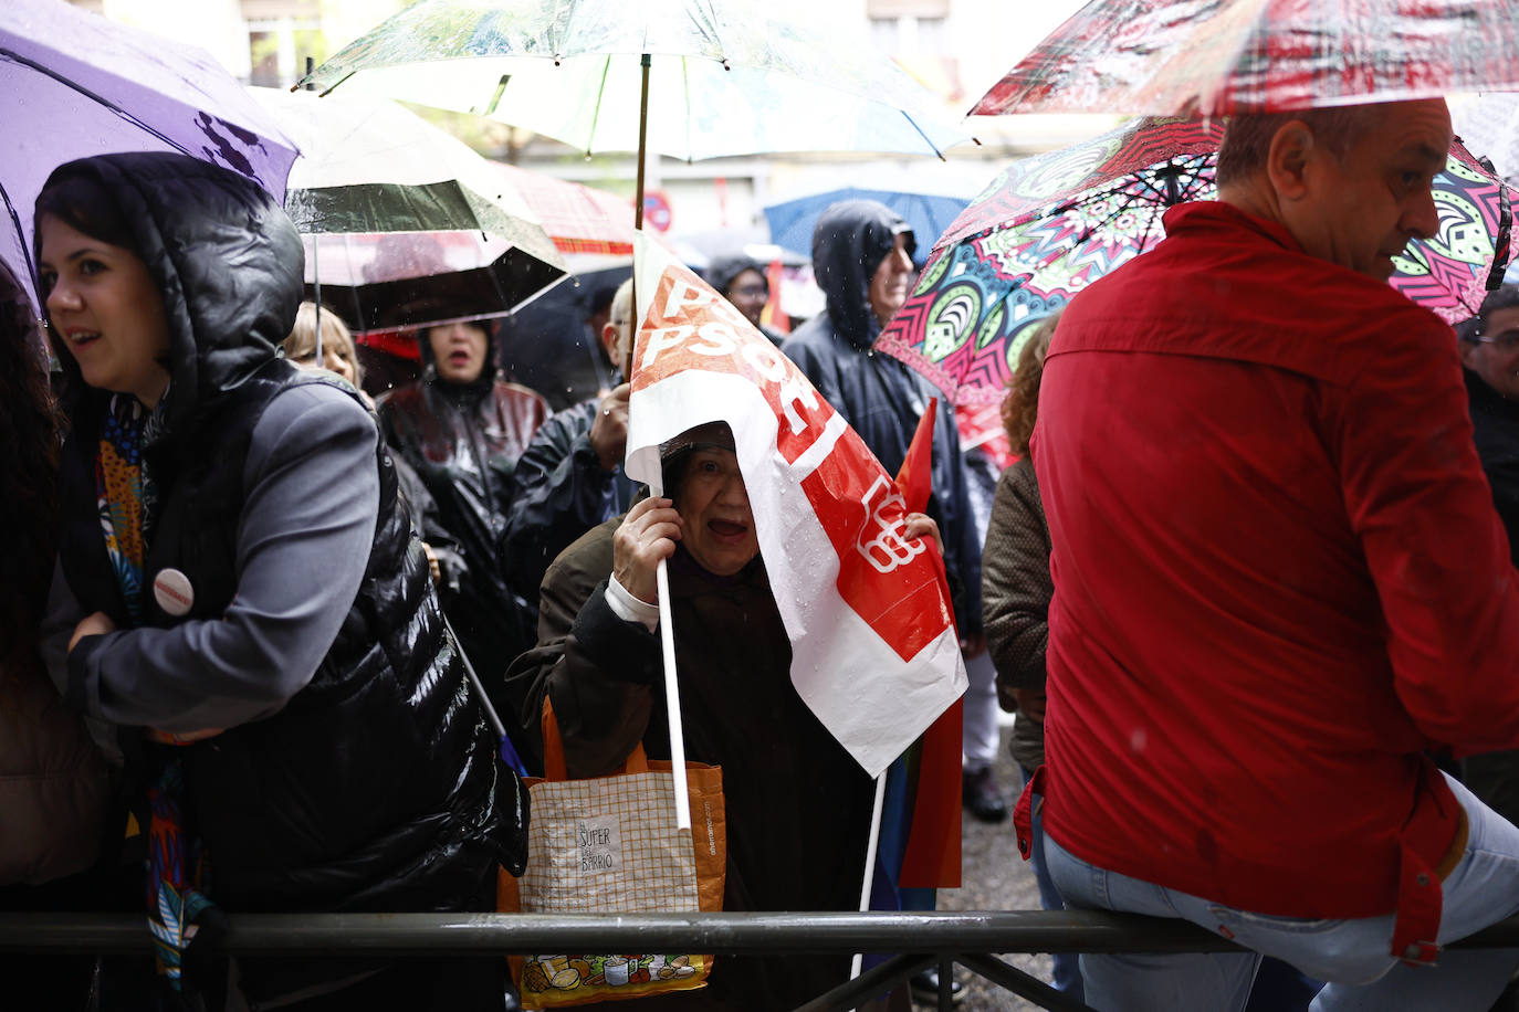
[[[1092,0],[971,112],[1221,115],[1516,88],[1507,0]]]

